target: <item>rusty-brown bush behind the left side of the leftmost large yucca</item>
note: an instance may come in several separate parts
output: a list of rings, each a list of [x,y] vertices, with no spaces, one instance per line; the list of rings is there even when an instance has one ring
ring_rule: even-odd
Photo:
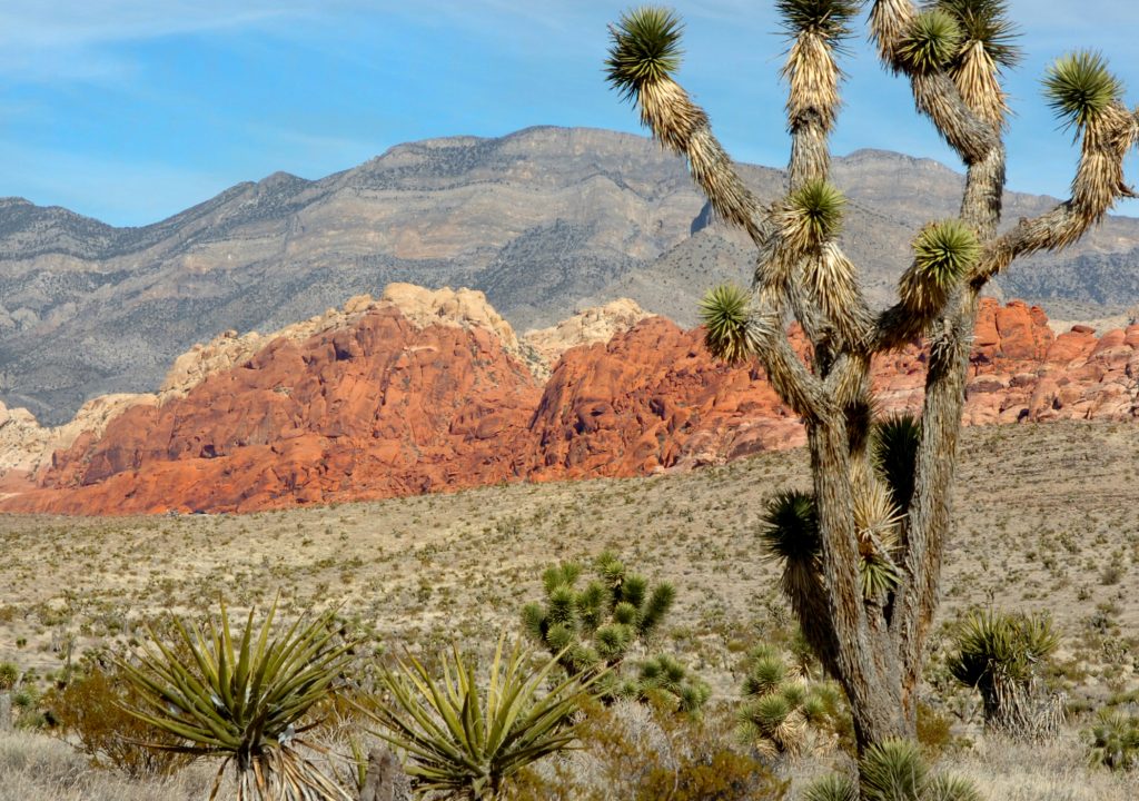
[[[79,749],[100,767],[112,767],[132,777],[171,774],[191,759],[171,751],[185,741],[126,711],[142,702],[133,684],[115,669],[91,671],[73,678],[63,689],[51,690],[43,705],[56,731],[79,742]],[[145,747],[154,743],[163,749]]]

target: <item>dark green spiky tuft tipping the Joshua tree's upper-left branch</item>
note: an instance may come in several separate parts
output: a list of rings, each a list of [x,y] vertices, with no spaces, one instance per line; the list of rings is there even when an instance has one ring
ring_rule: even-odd
[[[628,99],[646,84],[667,79],[680,67],[682,32],[680,18],[667,8],[644,6],[621,15],[609,28],[609,84]]]

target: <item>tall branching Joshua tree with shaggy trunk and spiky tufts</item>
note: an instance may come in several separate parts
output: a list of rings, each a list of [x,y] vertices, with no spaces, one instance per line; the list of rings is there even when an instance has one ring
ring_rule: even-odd
[[[1049,104],[1081,138],[1072,196],[998,235],[1005,189],[1002,70],[1016,63],[1002,0],[874,0],[869,33],[885,66],[907,79],[927,116],[967,169],[960,213],[917,232],[898,302],[871,310],[837,234],[843,196],[829,183],[828,137],[838,113],[836,55],[862,0],[777,0],[790,48],[792,134],[787,194],[761,203],[744,185],[708,117],[673,75],[681,24],[641,8],[612,28],[608,80],[632,100],[727,223],[759,252],[748,292],[721,287],[704,302],[707,344],[728,360],[759,359],[808,431],[813,493],[801,504],[814,531],[785,581],[825,667],[850,698],[860,750],[916,730],[916,685],[937,603],[977,296],[1015,259],[1071,245],[1123,196],[1122,163],[1139,136],[1137,112],[1103,58],[1079,52],[1044,77]],[[810,366],[790,348],[789,318],[813,345]],[[876,353],[917,337],[929,346],[925,401],[915,426],[908,498],[875,468]],[[904,495],[906,490],[901,490]],[[882,502],[882,501],[887,502]],[[898,501],[908,501],[902,508]],[[877,579],[865,581],[860,565]],[[793,577],[794,578],[794,577]]]

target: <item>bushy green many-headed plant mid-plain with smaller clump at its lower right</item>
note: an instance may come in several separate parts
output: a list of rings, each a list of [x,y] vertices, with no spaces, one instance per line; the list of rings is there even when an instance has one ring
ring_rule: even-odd
[[[642,661],[630,659],[648,643],[672,608],[675,589],[626,570],[612,553],[593,563],[596,577],[579,587],[581,565],[566,563],[542,574],[546,597],[526,604],[522,612],[526,632],[551,654],[558,654],[567,676],[606,672],[600,695],[617,697],[671,697],[678,710],[694,712],[708,700],[711,689],[670,654]]]

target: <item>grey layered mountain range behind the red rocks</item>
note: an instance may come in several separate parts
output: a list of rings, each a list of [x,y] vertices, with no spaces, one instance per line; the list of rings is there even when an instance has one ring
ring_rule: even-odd
[[[761,197],[781,191],[780,171],[740,169]],[[910,238],[953,213],[962,178],[876,150],[834,174],[850,197],[844,246],[884,304]],[[1006,216],[1052,203],[1011,194]],[[680,161],[587,129],[400,145],[320,180],[240,183],[142,228],[0,199],[0,401],[63,423],[97,395],[154,391],[218,332],[273,330],[392,281],[481,289],[518,329],[616,297],[690,326],[704,289],[746,280],[753,259]],[[1139,220],[1112,218],[1014,268],[998,294],[1070,320],[1117,314],[1139,303],[1137,263]]]

